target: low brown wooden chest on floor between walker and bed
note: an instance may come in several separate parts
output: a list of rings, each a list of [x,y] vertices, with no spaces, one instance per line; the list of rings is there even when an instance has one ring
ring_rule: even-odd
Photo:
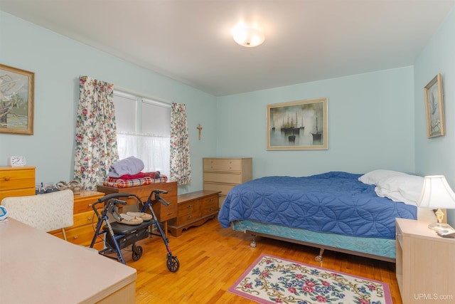
[[[173,236],[181,236],[184,229],[200,226],[218,214],[217,191],[200,190],[178,196],[176,219],[169,221],[168,229]]]

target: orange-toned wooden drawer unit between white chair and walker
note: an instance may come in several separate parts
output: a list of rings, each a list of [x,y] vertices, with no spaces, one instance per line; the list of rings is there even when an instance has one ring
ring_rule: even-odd
[[[105,196],[105,194],[91,190],[83,190],[80,194],[74,196],[74,224],[73,226],[65,228],[67,241],[82,246],[90,246],[98,222],[92,205],[102,196]],[[103,207],[104,205],[100,204],[100,212]],[[50,231],[50,234],[63,239],[63,232],[61,230]],[[99,238],[96,241],[94,248],[100,251],[103,246],[104,243],[102,239]]]

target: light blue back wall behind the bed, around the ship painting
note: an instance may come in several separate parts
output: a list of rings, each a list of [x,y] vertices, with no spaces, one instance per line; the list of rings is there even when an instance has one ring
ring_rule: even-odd
[[[218,98],[220,157],[253,157],[253,177],[414,172],[412,67]],[[328,98],[328,150],[267,151],[267,104]]]

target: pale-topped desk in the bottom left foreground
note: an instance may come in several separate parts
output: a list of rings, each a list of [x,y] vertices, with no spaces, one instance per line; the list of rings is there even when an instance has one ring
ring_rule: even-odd
[[[134,303],[136,269],[14,219],[0,223],[0,303]]]

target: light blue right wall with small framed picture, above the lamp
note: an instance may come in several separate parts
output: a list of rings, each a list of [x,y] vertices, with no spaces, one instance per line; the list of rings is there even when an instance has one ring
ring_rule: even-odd
[[[434,34],[414,63],[416,173],[442,174],[455,189],[455,9]],[[424,86],[442,75],[446,135],[427,138]],[[455,226],[455,209],[447,212]]]

